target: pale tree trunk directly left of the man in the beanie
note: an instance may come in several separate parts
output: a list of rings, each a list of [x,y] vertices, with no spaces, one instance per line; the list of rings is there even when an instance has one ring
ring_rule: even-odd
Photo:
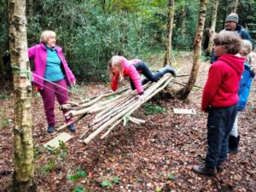
[[[215,28],[216,28],[217,12],[218,12],[218,0],[213,0],[213,2],[212,2],[212,18],[211,18],[212,25],[211,25],[209,44],[208,44],[208,49],[207,49],[206,55],[210,55],[212,53],[212,44],[213,44],[213,38],[214,38]]]

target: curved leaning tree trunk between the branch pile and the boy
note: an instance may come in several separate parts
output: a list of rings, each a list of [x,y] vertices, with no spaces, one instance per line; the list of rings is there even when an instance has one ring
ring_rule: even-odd
[[[177,91],[177,97],[183,100],[187,99],[190,91],[193,89],[195,85],[196,76],[199,70],[199,60],[201,56],[201,39],[205,26],[206,20],[206,12],[207,12],[207,0],[201,0],[200,3],[200,13],[198,19],[197,30],[195,34],[195,42],[194,42],[194,59],[193,59],[193,67],[189,76],[189,82],[186,86]]]

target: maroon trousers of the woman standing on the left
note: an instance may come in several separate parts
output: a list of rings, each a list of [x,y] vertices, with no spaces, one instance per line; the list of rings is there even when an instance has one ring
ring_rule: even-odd
[[[44,81],[44,90],[39,90],[43,101],[44,111],[46,119],[49,124],[55,124],[55,96],[60,105],[68,102],[67,83],[65,79],[51,83]],[[67,113],[67,110],[63,111],[63,114]],[[66,123],[72,121],[72,119],[66,119]]]

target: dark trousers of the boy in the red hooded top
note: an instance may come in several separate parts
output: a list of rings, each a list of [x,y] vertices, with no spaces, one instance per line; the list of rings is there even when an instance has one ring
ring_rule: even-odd
[[[207,120],[206,166],[216,167],[227,160],[229,135],[236,119],[236,104],[226,108],[209,108]]]

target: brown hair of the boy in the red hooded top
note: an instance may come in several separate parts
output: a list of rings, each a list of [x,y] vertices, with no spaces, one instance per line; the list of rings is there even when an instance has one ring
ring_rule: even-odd
[[[236,32],[222,31],[219,32],[214,40],[216,46],[223,45],[227,54],[236,55],[241,49],[241,37]]]

